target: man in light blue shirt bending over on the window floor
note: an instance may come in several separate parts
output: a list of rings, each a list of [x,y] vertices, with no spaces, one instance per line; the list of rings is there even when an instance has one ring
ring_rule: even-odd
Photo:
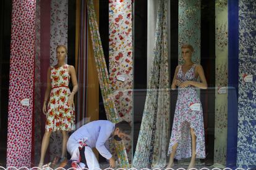
[[[109,167],[115,167],[115,160],[109,150],[108,140],[122,140],[130,133],[130,124],[127,121],[111,123],[107,120],[98,120],[87,123],[77,129],[67,141],[67,152],[71,161],[84,163],[89,169],[100,168],[92,148],[96,148],[101,156],[109,160]],[[72,164],[72,163],[71,163]],[[74,166],[72,166],[74,167]],[[76,167],[74,167],[76,168]]]

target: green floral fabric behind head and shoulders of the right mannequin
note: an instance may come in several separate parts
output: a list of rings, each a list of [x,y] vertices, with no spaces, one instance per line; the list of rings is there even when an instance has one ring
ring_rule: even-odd
[[[201,1],[179,1],[179,64],[184,61],[181,55],[182,44],[191,44],[194,47],[192,61],[200,63],[200,25],[201,25]]]

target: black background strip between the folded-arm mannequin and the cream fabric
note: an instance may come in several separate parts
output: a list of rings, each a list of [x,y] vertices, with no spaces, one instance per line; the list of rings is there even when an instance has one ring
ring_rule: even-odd
[[[205,164],[213,164],[215,142],[215,1],[201,1],[201,65],[208,89],[201,90],[205,123]]]

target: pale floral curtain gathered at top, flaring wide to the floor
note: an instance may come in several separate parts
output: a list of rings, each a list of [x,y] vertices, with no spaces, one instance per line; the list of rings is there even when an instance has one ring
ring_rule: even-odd
[[[167,0],[159,1],[153,62],[133,161],[137,169],[166,166],[170,105],[167,4]]]

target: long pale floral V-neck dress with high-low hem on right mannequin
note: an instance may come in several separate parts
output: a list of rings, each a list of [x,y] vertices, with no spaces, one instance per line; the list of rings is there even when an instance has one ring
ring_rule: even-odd
[[[181,66],[177,73],[177,79],[184,81],[197,81],[195,78],[195,64],[184,74]],[[199,105],[197,109],[190,107],[192,104]],[[190,127],[194,129],[196,139],[196,156],[205,158],[205,132],[203,127],[202,104],[198,98],[194,86],[178,88],[177,103],[173,119],[173,130],[169,142],[168,154],[172,152],[174,144],[178,143],[175,158],[191,157]]]

